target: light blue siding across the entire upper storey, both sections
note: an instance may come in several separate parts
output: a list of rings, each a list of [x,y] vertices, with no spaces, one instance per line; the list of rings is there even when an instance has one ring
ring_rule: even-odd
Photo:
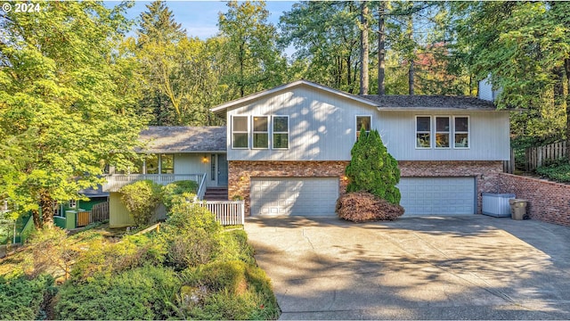
[[[289,149],[232,149],[232,116],[289,116]],[[375,107],[300,86],[262,96],[227,112],[229,161],[349,161],[355,141],[356,116],[371,115],[388,151],[398,161],[509,160],[508,111],[378,111]],[[468,149],[416,149],[415,116],[468,116]],[[433,128],[432,128],[433,129]],[[270,126],[271,130],[271,126]],[[435,132],[432,133],[432,136]],[[451,133],[452,136],[452,133]],[[272,138],[271,131],[269,133]],[[452,138],[452,137],[451,137]],[[270,142],[271,146],[271,142]]]

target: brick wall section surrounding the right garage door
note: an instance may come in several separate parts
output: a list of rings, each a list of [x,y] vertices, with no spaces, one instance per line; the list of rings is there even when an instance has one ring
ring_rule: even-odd
[[[398,161],[401,177],[475,177],[477,208],[481,214],[482,193],[497,193],[496,178],[502,161]]]

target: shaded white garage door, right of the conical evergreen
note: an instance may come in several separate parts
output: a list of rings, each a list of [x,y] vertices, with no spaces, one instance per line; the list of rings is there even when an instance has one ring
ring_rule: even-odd
[[[475,177],[402,177],[404,215],[475,214]]]

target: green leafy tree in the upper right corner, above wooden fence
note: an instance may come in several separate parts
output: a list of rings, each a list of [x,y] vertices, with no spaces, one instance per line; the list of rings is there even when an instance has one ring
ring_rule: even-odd
[[[560,90],[570,83],[570,4],[463,3],[452,9],[471,72],[477,79],[491,75],[493,86],[502,90],[499,108],[529,110],[512,127],[543,141],[564,136],[566,129],[570,144],[570,95]]]

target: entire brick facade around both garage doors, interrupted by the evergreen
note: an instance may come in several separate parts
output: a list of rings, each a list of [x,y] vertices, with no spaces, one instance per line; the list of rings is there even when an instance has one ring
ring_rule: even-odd
[[[481,193],[497,192],[501,161],[399,161],[402,177],[476,177],[477,213]],[[228,195],[245,201],[250,215],[251,177],[338,177],[339,193],[346,192],[348,161],[228,161]]]

